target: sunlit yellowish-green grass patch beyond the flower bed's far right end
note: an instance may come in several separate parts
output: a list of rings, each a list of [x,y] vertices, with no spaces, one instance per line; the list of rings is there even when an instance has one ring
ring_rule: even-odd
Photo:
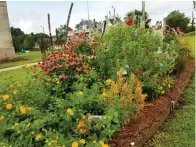
[[[195,57],[195,32],[185,34],[185,39],[189,42],[191,46],[191,56]]]

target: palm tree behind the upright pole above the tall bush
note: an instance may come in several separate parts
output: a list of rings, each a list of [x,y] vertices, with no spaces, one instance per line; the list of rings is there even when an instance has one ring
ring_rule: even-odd
[[[128,12],[125,16],[125,20],[128,18],[132,18],[134,20],[134,24],[137,26],[141,26],[142,23],[142,11],[134,10],[131,12]],[[149,23],[151,22],[151,19],[148,18],[148,13],[145,12],[145,28],[149,28]]]

